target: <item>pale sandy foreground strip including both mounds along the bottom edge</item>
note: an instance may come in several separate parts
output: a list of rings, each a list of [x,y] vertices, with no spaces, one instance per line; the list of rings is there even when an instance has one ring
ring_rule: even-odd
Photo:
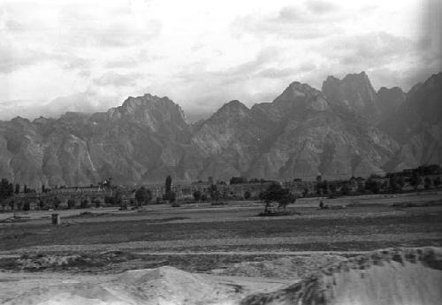
[[[309,260],[321,261],[321,268],[303,271],[304,277],[296,271],[305,259],[288,257],[236,263],[205,274],[168,266],[107,275],[1,272],[0,302],[420,305],[442,301],[442,248],[390,248],[349,258],[312,253]]]

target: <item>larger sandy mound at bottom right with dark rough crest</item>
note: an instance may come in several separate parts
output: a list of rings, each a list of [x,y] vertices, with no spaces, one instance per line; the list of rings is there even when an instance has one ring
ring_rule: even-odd
[[[316,275],[269,294],[255,304],[440,304],[442,248],[385,249],[335,263]]]

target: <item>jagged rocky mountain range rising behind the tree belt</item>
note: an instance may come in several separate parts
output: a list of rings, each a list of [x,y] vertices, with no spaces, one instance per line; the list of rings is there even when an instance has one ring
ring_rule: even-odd
[[[191,125],[167,97],[61,118],[0,121],[0,177],[31,187],[112,178],[133,185],[230,179],[347,179],[442,164],[442,73],[408,93],[365,72],[293,82],[272,103],[225,103]]]

